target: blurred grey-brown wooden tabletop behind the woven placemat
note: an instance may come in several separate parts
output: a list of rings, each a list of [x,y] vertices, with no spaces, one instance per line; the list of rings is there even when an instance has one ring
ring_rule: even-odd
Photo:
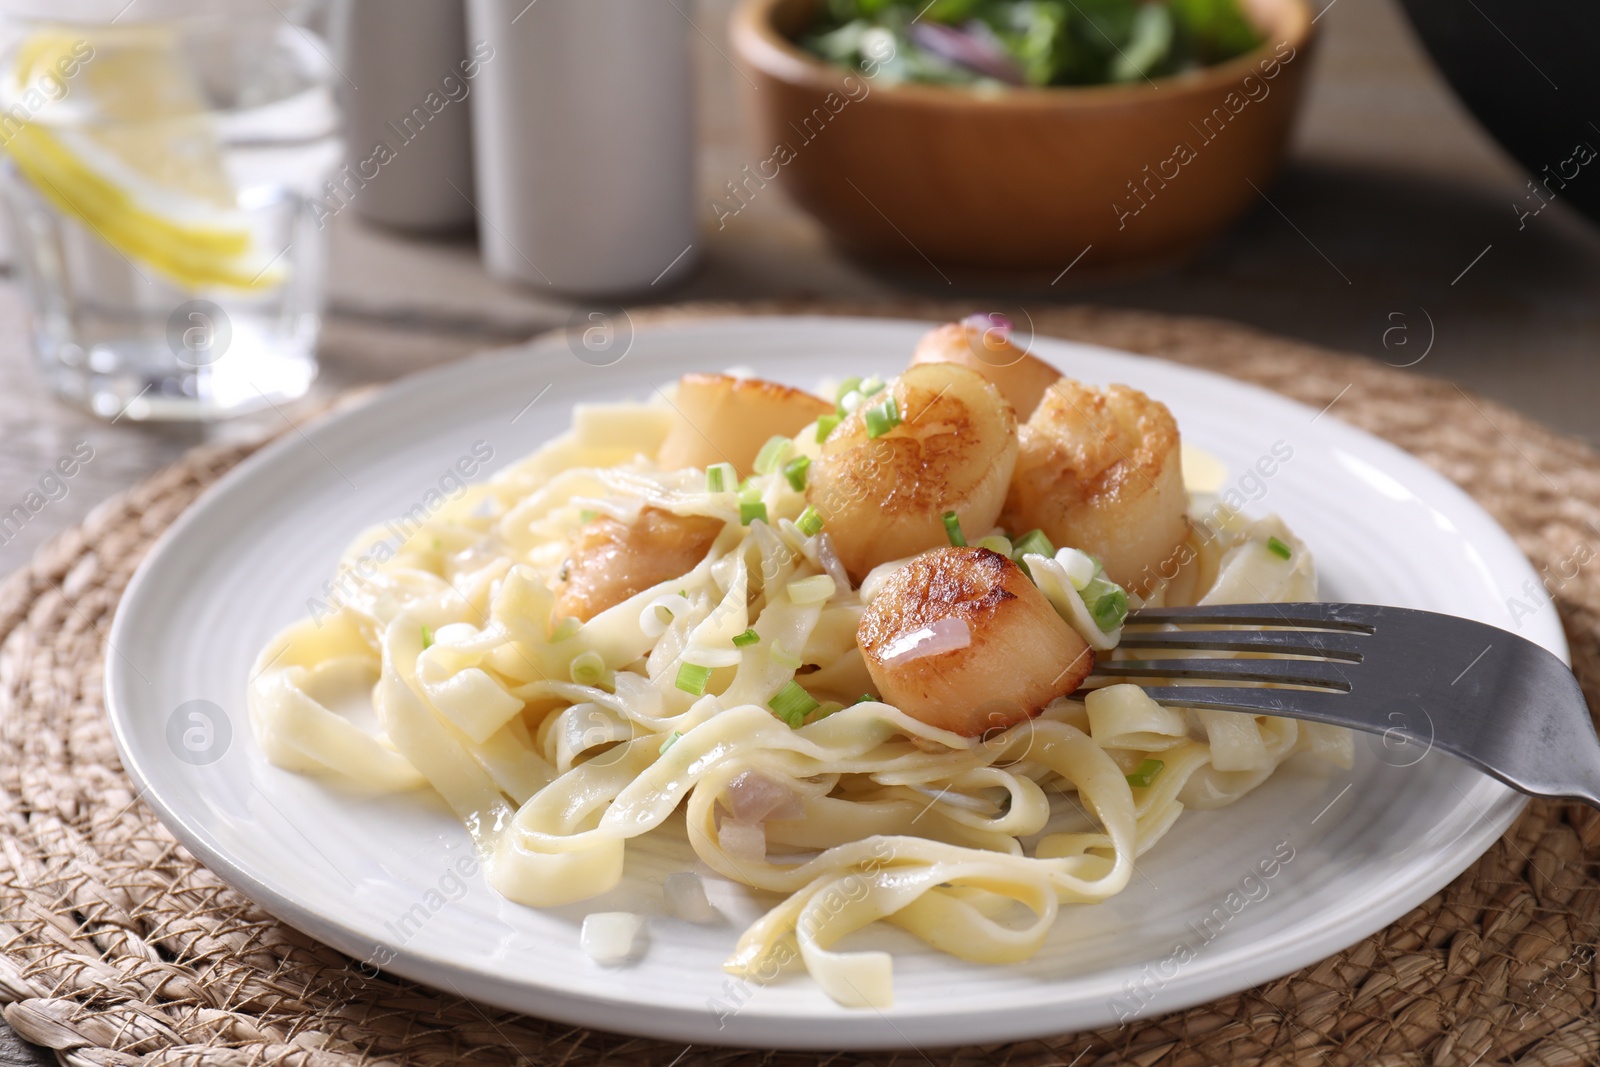
[[[1547,206],[1530,198],[1530,173],[1454,96],[1398,0],[1317,2],[1320,42],[1307,67],[1288,162],[1253,194],[1232,229],[1179,267],[1115,282],[1066,270],[1053,285],[1048,278],[1026,285],[974,280],[917,258],[894,269],[864,267],[835,251],[822,227],[786,194],[787,174],[750,195],[736,216],[720,218],[714,203],[726,203],[726,182],[771,152],[757,134],[757,91],[738,67],[728,37],[736,2],[659,0],[656,6],[661,3],[669,6],[658,14],[683,34],[690,50],[693,125],[686,130],[693,134],[685,133],[677,146],[694,165],[683,171],[694,174],[690,248],[678,261],[662,259],[658,283],[634,286],[634,294],[608,298],[606,304],[946,299],[970,310],[1072,302],[1227,318],[1459,381],[1557,430],[1600,443],[1594,414],[1600,374],[1592,366],[1600,352],[1600,229],[1570,198],[1555,197]],[[1462,18],[1482,14],[1450,6],[1464,11]],[[331,64],[344,62],[328,82],[342,96],[349,123],[358,110],[350,107],[349,90],[362,78],[355,77],[357,59],[339,50],[341,30],[330,18],[338,16],[310,11],[306,32],[318,50],[328,48]],[[334,43],[325,45],[323,34]],[[1493,40],[1504,42],[1507,62],[1539,70],[1538,46],[1525,51],[1499,29],[1494,34]],[[483,78],[510,69],[501,56],[498,69],[485,66]],[[482,107],[485,85],[477,83],[477,96],[466,104]],[[1510,114],[1515,118],[1515,109]],[[482,128],[485,115],[474,118]],[[496,122],[515,118],[498,115]],[[654,125],[659,133],[661,123]],[[1592,136],[1600,146],[1600,130]],[[427,149],[418,141],[406,150]],[[539,150],[558,155],[574,149],[544,142]],[[667,144],[662,150],[677,149]],[[1003,166],[1003,155],[998,152],[994,165]],[[485,162],[482,147],[477,162]],[[445,178],[456,173],[454,181],[467,181],[450,166],[442,170]],[[35,365],[13,242],[0,274],[0,510],[80,442],[90,443],[94,459],[72,477],[61,499],[0,534],[0,571],[19,566],[51,533],[184,448],[282,427],[296,403],[523,341],[582,315],[592,299],[562,296],[538,278],[491,277],[485,269],[477,230],[496,229],[490,243],[506,234],[482,222],[482,174],[477,182],[472,195],[458,189],[466,206],[440,208],[430,234],[376,224],[358,211],[330,214],[320,238],[326,240],[315,342],[320,376],[310,397],[198,426],[139,422],[122,418],[125,411],[96,418],[53,398]],[[626,197],[626,189],[618,195]],[[613,211],[613,203],[597,192],[570,214]],[[896,211],[890,200],[880,206],[886,218]],[[677,238],[666,234],[661,240]],[[520,253],[502,248],[501,254],[517,266]]]

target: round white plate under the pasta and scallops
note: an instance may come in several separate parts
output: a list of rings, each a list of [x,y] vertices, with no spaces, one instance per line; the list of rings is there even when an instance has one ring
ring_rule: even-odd
[[[307,611],[362,528],[422,501],[475,442],[493,446],[490,469],[499,467],[565,429],[573,402],[645,397],[691,370],[752,365],[802,386],[890,374],[925,328],[850,318],[651,326],[606,368],[546,338],[410,378],[286,435],[168,531],[122,601],[106,696],[123,763],[206,865],[357,960],[381,961],[386,947],[395,974],[563,1022],[784,1048],[1013,1040],[1222,997],[1394,921],[1510,825],[1522,798],[1504,785],[1442,753],[1416,760],[1419,747],[1358,739],[1354,773],[1291,765],[1232,808],[1186,813],[1128,891],[1062,909],[1027,963],[965,965],[901,931],[862,934],[896,952],[894,1008],[862,1011],[834,1005],[803,974],[765,985],[723,974],[718,965],[763,905],[717,881],[712,901],[726,923],[670,918],[661,878],[693,865],[686,845],[630,843],[618,889],[534,910],[507,904],[482,875],[453,873],[472,867],[470,849],[438,801],[350,795],[261,757],[245,713],[256,651]],[[1477,504],[1411,456],[1331,414],[1203,371],[1062,341],[1040,339],[1034,350],[1085,381],[1128,382],[1165,400],[1186,438],[1221,456],[1235,485],[1274,443],[1293,448],[1259,482],[1264,494],[1250,510],[1282,514],[1312,545],[1328,600],[1514,625],[1507,598],[1536,577],[1533,568]],[[1552,611],[1525,617],[1522,633],[1566,651]],[[1461,649],[1461,665],[1475,654]],[[190,734],[200,753],[182,742],[186,728],[198,728],[189,712],[203,707],[184,709],[190,701],[221,712],[210,741],[203,729]],[[1262,878],[1259,864],[1288,849],[1293,859]],[[579,952],[590,910],[650,917],[637,965],[602,968]]]

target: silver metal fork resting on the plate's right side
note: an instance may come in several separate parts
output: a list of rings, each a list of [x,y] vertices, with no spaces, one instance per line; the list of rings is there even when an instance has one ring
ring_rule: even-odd
[[[1168,624],[1213,629],[1147,629]],[[1256,629],[1214,629],[1221,625]],[[1578,678],[1509,630],[1347,603],[1152,608],[1131,613],[1126,627],[1118,648],[1144,657],[1107,659],[1093,677],[1222,683],[1150,685],[1146,693],[1176,707],[1285,715],[1416,741],[1525,793],[1600,808],[1600,739]],[[1184,659],[1190,649],[1274,657]]]

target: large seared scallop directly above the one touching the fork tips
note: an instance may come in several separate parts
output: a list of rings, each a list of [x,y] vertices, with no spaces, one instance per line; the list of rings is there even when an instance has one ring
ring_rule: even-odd
[[[870,437],[893,395],[899,424]],[[859,582],[878,563],[949,544],[944,512],[973,541],[994,528],[1016,464],[1016,416],[1000,390],[955,363],[907,368],[850,413],[811,464],[806,501]]]

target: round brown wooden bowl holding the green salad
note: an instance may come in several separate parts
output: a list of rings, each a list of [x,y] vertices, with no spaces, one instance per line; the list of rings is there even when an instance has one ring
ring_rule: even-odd
[[[1251,0],[1266,43],[1214,67],[981,93],[877,85],[822,62],[794,43],[814,6],[744,0],[734,11],[762,152],[714,205],[718,224],[779,184],[850,254],[1046,282],[1069,264],[1083,277],[1181,261],[1259,202],[1315,29],[1306,0]]]

